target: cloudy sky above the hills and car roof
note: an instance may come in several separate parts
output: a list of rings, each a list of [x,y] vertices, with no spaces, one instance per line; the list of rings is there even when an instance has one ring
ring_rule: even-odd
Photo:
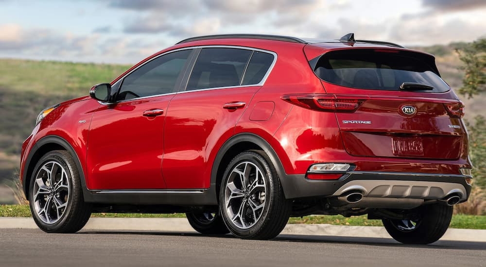
[[[486,36],[486,0],[0,0],[1,58],[135,64],[221,33],[471,42]]]

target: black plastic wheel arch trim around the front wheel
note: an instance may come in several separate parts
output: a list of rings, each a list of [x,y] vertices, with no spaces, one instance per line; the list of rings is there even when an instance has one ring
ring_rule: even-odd
[[[23,177],[22,177],[22,181],[23,181],[22,189],[25,193],[25,198],[29,200],[29,185],[32,179],[32,174],[34,172],[35,165],[43,155],[53,150],[66,150],[69,152],[69,154],[71,155],[72,159],[76,164],[76,167],[78,168],[80,182],[83,187],[83,195],[86,197],[87,187],[86,187],[85,174],[76,151],[72,148],[69,142],[66,141],[66,139],[57,135],[48,135],[41,138],[39,141],[37,141],[34,147],[32,148],[31,152],[27,156],[25,171],[23,172]]]

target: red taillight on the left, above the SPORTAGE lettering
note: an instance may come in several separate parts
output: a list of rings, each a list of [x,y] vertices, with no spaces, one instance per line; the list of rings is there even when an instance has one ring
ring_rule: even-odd
[[[283,95],[283,100],[303,108],[327,112],[355,112],[365,100],[339,98],[335,95]]]

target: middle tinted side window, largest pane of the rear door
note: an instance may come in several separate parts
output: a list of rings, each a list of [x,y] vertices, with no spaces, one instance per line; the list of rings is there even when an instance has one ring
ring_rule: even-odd
[[[240,85],[251,53],[251,50],[235,48],[202,49],[186,91]]]

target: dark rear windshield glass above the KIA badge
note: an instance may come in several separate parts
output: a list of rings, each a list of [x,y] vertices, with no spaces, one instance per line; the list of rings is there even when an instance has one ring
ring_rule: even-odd
[[[330,51],[317,61],[315,74],[328,83],[359,89],[399,91],[405,82],[434,87],[422,92],[448,91],[449,85],[436,74],[435,66],[421,57],[424,55],[400,50]]]

